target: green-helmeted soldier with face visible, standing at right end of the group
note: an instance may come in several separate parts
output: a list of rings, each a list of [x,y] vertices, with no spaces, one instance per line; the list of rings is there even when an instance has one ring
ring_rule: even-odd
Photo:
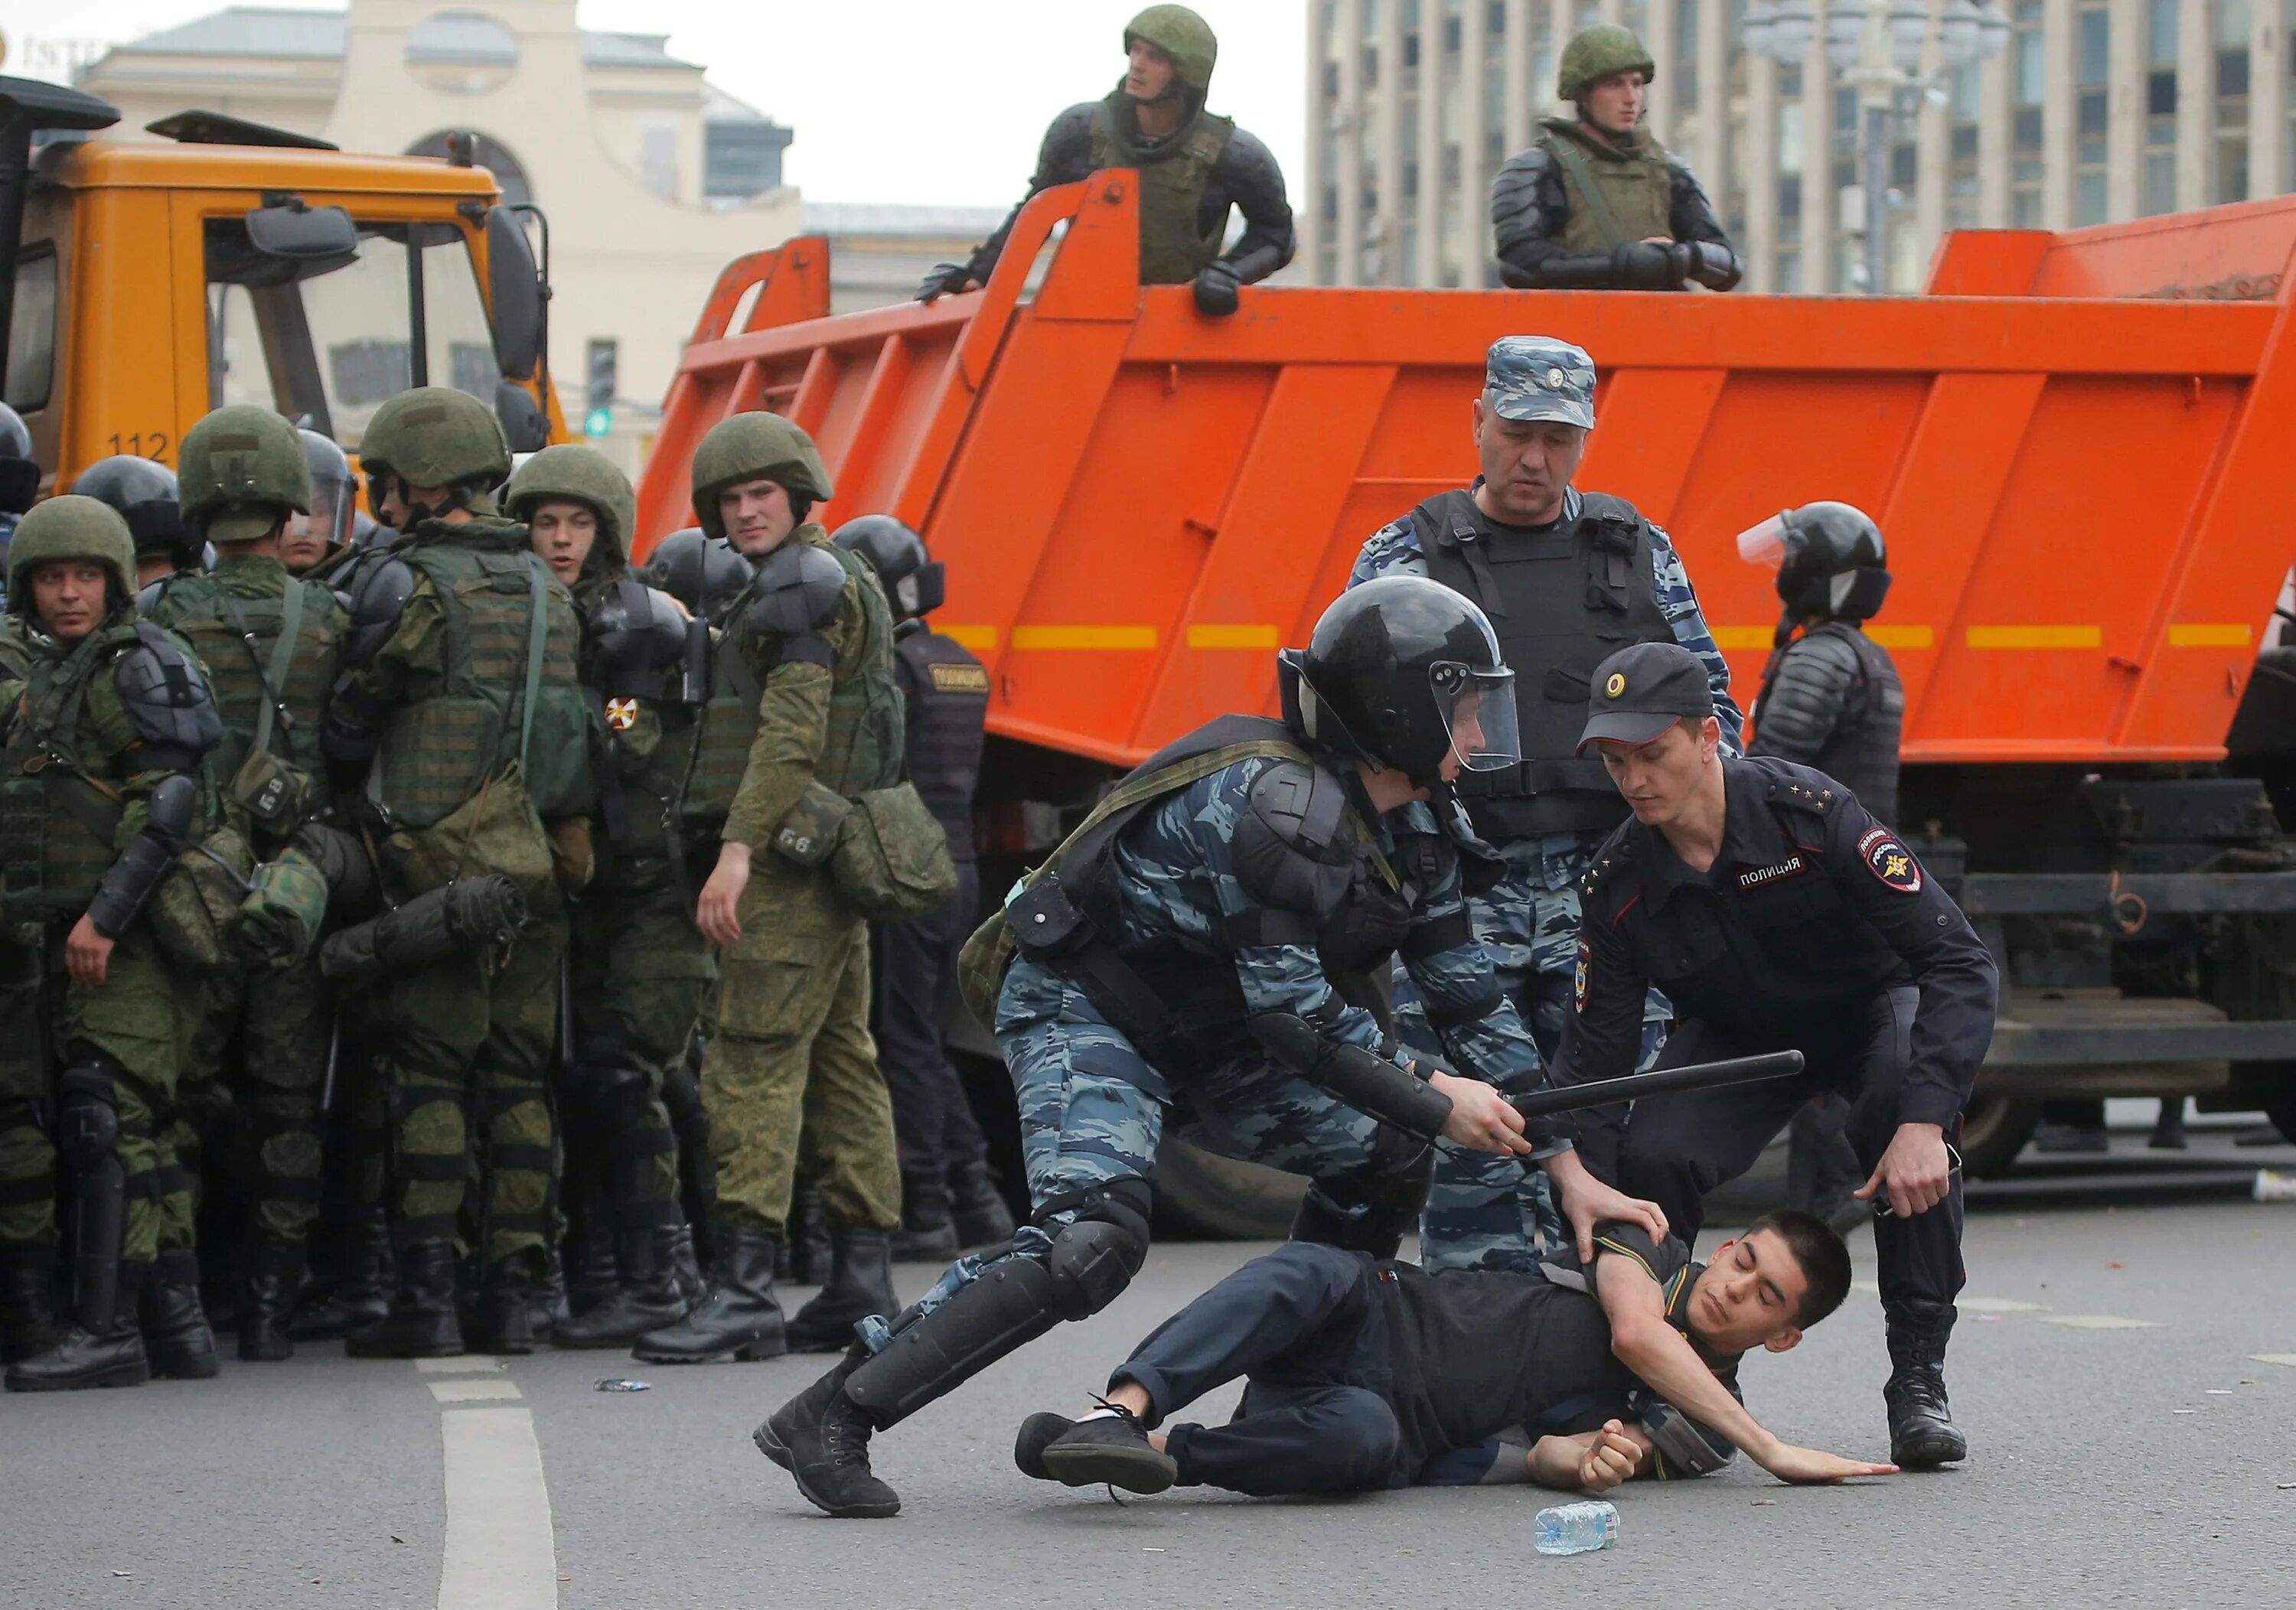
[[[721,616],[682,802],[721,841],[696,912],[719,946],[703,1056],[719,1220],[703,1300],[636,1344],[661,1364],[840,1348],[856,1321],[898,1307],[900,1164],[868,1034],[868,926],[824,864],[836,834],[806,822],[900,783],[902,703],[884,590],[810,519],[829,496],[813,439],[774,413],[719,420],[693,452],[693,517],[755,576]],[[829,1210],[833,1259],[822,1293],[783,1323],[774,1252],[799,1160]]]

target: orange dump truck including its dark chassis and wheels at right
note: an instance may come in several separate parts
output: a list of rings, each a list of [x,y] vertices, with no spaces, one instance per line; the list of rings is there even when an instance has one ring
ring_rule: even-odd
[[[1205,319],[1134,282],[1134,191],[1038,195],[990,285],[934,305],[827,317],[820,239],[735,262],[641,537],[691,524],[726,413],[810,429],[831,524],[893,512],[948,563],[937,625],[994,678],[985,843],[1019,859],[1058,822],[1026,806],[1274,712],[1274,650],[1362,540],[1472,478],[1488,342],[1564,335],[1603,374],[1580,485],[1674,533],[1740,703],[1777,599],[1736,533],[1844,498],[1890,537],[1903,820],[2011,981],[1972,1167],[2050,1096],[2262,1105],[2296,1137],[2296,655],[2266,648],[2296,556],[2296,200],[1954,234],[1915,299],[1261,287]]]

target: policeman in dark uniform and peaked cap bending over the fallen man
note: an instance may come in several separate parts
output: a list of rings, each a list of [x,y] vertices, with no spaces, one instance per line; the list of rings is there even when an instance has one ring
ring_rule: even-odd
[[[1800,1050],[1800,1079],[1660,1096],[1580,1125],[1589,1164],[1694,1240],[1701,1199],[1745,1174],[1818,1091],[1851,1102],[1890,1321],[1890,1456],[1968,1454],[1945,1401],[1961,1291],[1961,1178],[1947,1139],[1993,1038],[2000,976],[1913,852],[1835,779],[1720,753],[1706,675],[1678,648],[1603,661],[1582,740],[1635,820],[1582,884],[1577,1011],[1554,1084],[1632,1070],[1642,997],[1676,1029],[1660,1066]]]

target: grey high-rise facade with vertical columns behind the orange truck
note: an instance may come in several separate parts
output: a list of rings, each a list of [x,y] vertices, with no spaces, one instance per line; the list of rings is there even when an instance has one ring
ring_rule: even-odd
[[[1942,16],[1945,0],[1926,0]],[[1309,0],[1302,266],[1320,285],[1497,285],[1490,179],[1573,32],[1626,23],[1649,126],[1704,179],[1754,292],[1864,289],[1857,90],[1818,46],[1745,51],[1745,0]],[[1862,11],[1862,7],[1860,7]],[[2296,0],[2004,0],[2007,48],[1938,67],[1887,154],[1885,289],[1954,227],[2119,223],[2296,188]]]

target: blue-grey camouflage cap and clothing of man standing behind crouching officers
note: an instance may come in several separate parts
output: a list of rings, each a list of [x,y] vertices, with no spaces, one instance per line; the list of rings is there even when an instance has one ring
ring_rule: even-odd
[[[1520,345],[1520,351],[1502,354],[1502,347]],[[1492,349],[1492,386],[1513,393],[1554,390],[1552,374],[1561,374],[1561,395],[1582,400],[1587,425],[1593,423],[1593,365],[1587,354],[1568,342],[1545,338],[1506,338]],[[1575,487],[1564,489],[1564,508],[1557,526],[1568,526],[1582,512]],[[1428,560],[1419,542],[1419,528],[1410,514],[1396,519],[1371,535],[1357,554],[1348,586],[1359,586],[1373,576],[1426,576]],[[1722,742],[1738,751],[1740,714],[1729,698],[1729,664],[1715,648],[1713,632],[1699,613],[1697,593],[1690,588],[1690,572],[1683,567],[1674,542],[1653,526],[1651,540],[1651,595],[1660,616],[1674,632],[1674,641],[1697,655],[1708,671],[1715,691],[1715,712],[1722,717]],[[1541,666],[1515,666],[1525,684],[1536,684]],[[1474,930],[1490,953],[1499,974],[1499,985],[1515,1001],[1522,1022],[1536,1040],[1536,1059],[1527,1084],[1502,1084],[1511,1093],[1527,1091],[1543,1082],[1545,1063],[1561,1040],[1564,1020],[1570,1011],[1570,978],[1577,967],[1577,921],[1580,880],[1593,864],[1607,831],[1541,834],[1531,838],[1497,841],[1492,847],[1506,861],[1506,873],[1488,891],[1469,898]],[[1651,1066],[1665,1043],[1671,1008],[1655,990],[1644,1006],[1642,1066]],[[1426,1013],[1407,985],[1396,983],[1396,1020],[1405,1040],[1424,1050],[1435,1050],[1435,1038],[1426,1029]],[[1525,1233],[1529,1229],[1529,1233]],[[1463,1153],[1437,1144],[1435,1183],[1428,1190],[1426,1217],[1421,1222],[1419,1256],[1428,1268],[1508,1268],[1529,1270],[1538,1254],[1561,1243],[1561,1217],[1554,1213],[1545,1174],[1536,1169],[1513,1169],[1499,1158]]]

